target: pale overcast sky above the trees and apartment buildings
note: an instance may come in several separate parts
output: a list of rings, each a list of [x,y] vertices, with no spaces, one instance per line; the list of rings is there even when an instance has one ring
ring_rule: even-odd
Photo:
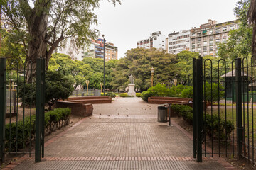
[[[238,0],[121,0],[115,7],[107,0],[95,11],[101,34],[118,47],[118,58],[137,47],[137,41],[155,31],[167,35],[198,28],[208,19],[218,23],[235,20],[233,9]]]

